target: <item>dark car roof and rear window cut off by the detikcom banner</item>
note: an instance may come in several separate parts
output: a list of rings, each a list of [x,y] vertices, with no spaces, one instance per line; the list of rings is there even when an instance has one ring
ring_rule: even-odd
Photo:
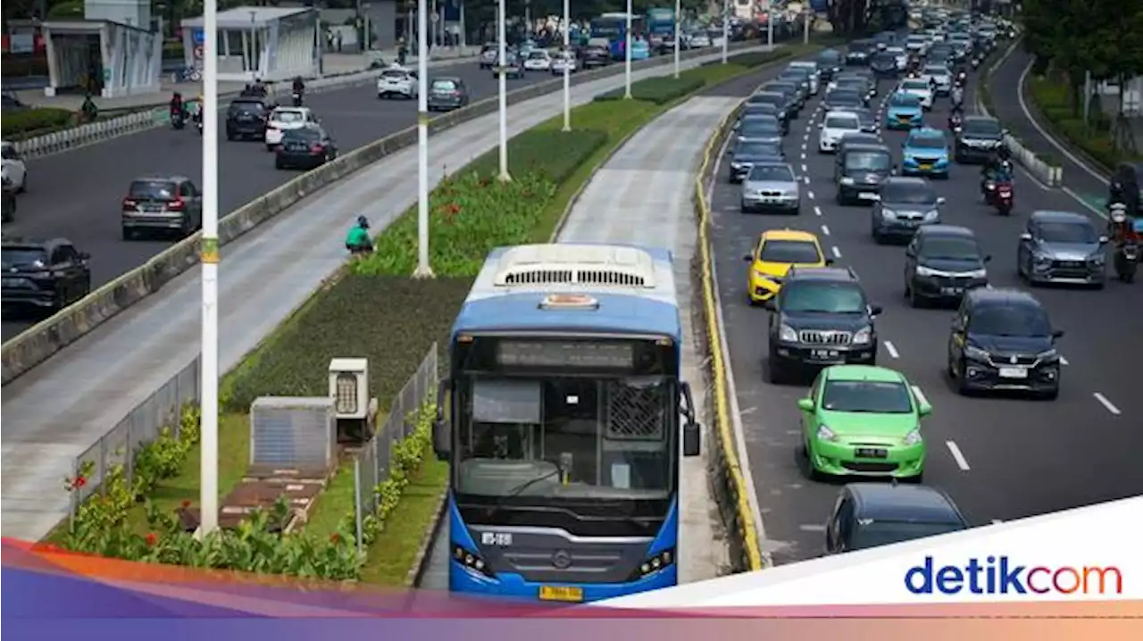
[[[849,483],[825,523],[825,553],[841,554],[968,529],[949,495],[928,486]]]

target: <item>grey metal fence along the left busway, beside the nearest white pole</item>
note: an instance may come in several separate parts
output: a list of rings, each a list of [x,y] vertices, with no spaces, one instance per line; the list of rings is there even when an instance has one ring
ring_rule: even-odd
[[[170,428],[173,436],[179,435],[182,408],[186,403],[198,402],[199,383],[199,358],[195,356],[87,451],[75,457],[72,478],[79,475],[88,463],[91,464],[91,470],[87,472],[86,483],[71,492],[72,518],[80,503],[103,486],[107,473],[117,465],[123,466],[123,473],[130,480],[135,471],[135,454],[143,444],[153,441],[165,427]]]

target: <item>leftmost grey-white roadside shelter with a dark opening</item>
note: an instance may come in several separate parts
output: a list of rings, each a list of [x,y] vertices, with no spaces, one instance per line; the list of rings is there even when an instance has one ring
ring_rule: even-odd
[[[48,54],[47,96],[90,91],[118,98],[160,90],[160,33],[107,19],[53,21],[41,30]]]

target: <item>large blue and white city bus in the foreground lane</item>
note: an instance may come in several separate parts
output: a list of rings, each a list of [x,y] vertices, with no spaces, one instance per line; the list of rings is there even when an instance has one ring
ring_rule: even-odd
[[[680,456],[700,450],[681,343],[669,250],[488,255],[433,424],[450,591],[567,603],[678,583]]]

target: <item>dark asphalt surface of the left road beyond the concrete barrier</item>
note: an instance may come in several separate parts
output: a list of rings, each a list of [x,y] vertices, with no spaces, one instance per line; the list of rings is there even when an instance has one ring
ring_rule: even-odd
[[[462,78],[472,102],[494,96],[498,87],[491,72],[479,69],[474,59],[434,67],[434,73]],[[529,72],[521,80],[510,80],[509,90],[552,78],[547,72]],[[411,127],[417,119],[416,101],[378,99],[373,80],[314,91],[305,105],[321,119],[342,153]],[[298,171],[274,169],[272,154],[259,143],[227,142],[223,125],[219,119],[218,206],[223,215],[298,176]],[[29,165],[29,191],[21,197],[16,223],[6,226],[5,233],[71,239],[91,255],[94,289],[173,243],[169,239],[123,241],[120,201],[137,176],[184,175],[201,185],[202,143],[193,128],[158,128],[33,159]],[[3,320],[0,340],[30,324],[24,319]]]

